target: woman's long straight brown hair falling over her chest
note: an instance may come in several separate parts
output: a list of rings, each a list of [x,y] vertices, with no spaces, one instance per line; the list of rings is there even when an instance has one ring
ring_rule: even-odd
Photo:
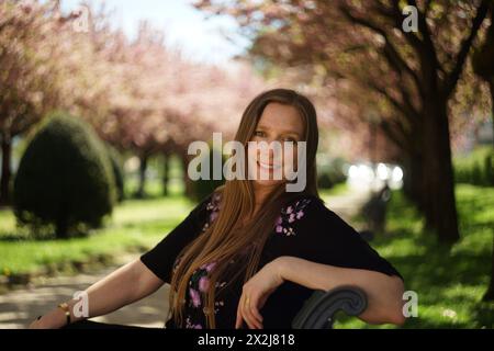
[[[265,107],[271,103],[294,106],[303,118],[305,126],[304,141],[306,145],[306,186],[301,193],[289,193],[284,183],[272,191],[259,211],[247,223],[255,210],[255,195],[251,180],[231,180],[218,188],[221,204],[217,218],[212,225],[187,246],[181,254],[171,278],[170,313],[178,326],[183,324],[183,307],[189,280],[195,270],[203,264],[216,262],[210,272],[209,291],[205,294],[206,327],[215,328],[215,294],[216,282],[226,273],[231,260],[243,260],[246,264],[244,282],[247,282],[258,270],[262,248],[271,234],[280,210],[289,201],[300,195],[317,194],[316,184],[316,151],[318,144],[317,117],[314,105],[300,93],[288,89],[273,89],[257,95],[245,110],[235,140],[242,143],[247,151],[257,124]],[[237,270],[242,272],[242,270]],[[235,278],[232,278],[235,279]],[[204,299],[203,299],[204,301]]]

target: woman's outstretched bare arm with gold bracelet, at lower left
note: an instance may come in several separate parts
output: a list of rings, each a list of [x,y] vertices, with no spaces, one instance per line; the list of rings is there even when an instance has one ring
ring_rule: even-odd
[[[75,316],[74,307],[80,302],[76,299],[68,301],[70,320],[75,322],[86,318],[106,315],[151,294],[162,284],[164,282],[137,259],[86,290],[88,316]],[[54,308],[43,316],[41,327],[59,328],[65,324],[66,317],[63,310]]]

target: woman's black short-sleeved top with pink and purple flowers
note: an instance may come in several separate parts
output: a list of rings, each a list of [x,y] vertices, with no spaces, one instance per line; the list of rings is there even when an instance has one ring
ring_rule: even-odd
[[[144,253],[141,261],[158,278],[169,283],[180,262],[180,251],[216,219],[220,203],[218,194],[207,196],[155,248]],[[351,226],[315,196],[296,199],[280,208],[272,236],[262,250],[259,269],[281,256],[293,256],[336,267],[372,270],[401,278]],[[216,328],[235,327],[244,274],[237,275],[239,278],[234,281],[229,281],[228,276],[218,280],[215,286],[214,312],[207,310],[203,297],[210,286],[209,272],[214,270],[215,264],[216,262],[204,264],[192,274],[186,298],[184,325],[176,326],[171,318],[167,328],[205,328],[205,316],[211,313],[215,314]],[[229,264],[232,271],[245,270],[245,267],[236,267],[235,260]],[[263,327],[291,328],[292,319],[312,292],[292,282],[283,283],[260,310]]]

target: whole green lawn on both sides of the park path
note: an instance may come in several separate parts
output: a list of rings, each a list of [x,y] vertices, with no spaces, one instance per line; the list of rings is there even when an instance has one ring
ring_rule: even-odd
[[[344,185],[334,189],[337,194],[344,190]],[[450,249],[423,231],[422,217],[400,192],[393,193],[390,203],[388,234],[372,241],[404,275],[406,290],[418,294],[418,317],[408,318],[405,328],[494,327],[494,304],[480,303],[491,272],[494,188],[460,184],[457,201],[462,239]],[[192,206],[179,195],[130,200],[115,208],[105,228],[88,238],[65,241],[15,240],[19,231],[12,213],[0,211],[0,275],[46,270],[64,262],[70,267],[68,262],[120,254],[131,248],[148,249]],[[335,327],[374,328],[357,318],[343,318]]]

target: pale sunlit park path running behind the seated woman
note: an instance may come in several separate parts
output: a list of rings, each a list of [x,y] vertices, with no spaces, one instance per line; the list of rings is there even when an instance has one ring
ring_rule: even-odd
[[[344,219],[350,220],[368,196],[369,194],[364,191],[352,190],[323,199],[327,207]],[[0,295],[0,329],[25,328],[33,318],[46,313],[58,303],[69,299],[76,291],[87,288],[117,267],[137,257],[121,257],[114,265],[93,274],[42,279],[33,282],[26,288]],[[168,290],[169,286],[166,284],[153,295],[93,320],[142,327],[162,327],[168,310]]]

